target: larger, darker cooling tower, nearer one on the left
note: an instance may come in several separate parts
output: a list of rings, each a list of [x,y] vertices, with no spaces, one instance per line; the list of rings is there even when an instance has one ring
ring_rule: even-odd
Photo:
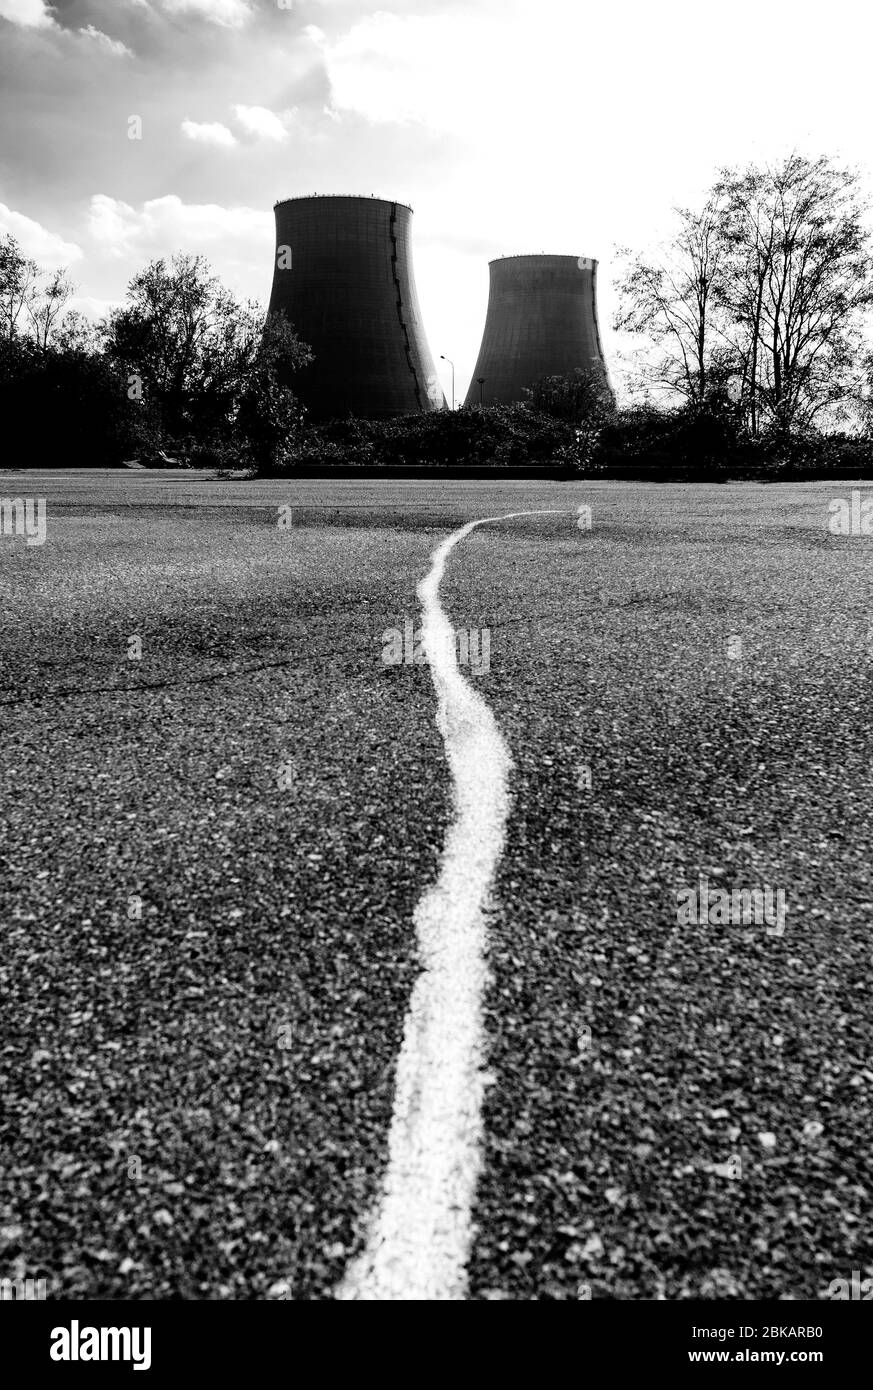
[[[377,197],[275,204],[270,311],[313,349],[292,384],[314,420],[445,407],[416,295],[411,215]]]

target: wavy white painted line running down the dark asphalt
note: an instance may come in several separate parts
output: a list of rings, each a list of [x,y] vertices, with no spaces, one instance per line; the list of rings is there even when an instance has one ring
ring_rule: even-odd
[[[512,759],[491,709],[457,669],[439,582],[449,555],[477,525],[546,514],[556,513],[468,521],[434,550],[418,585],[455,816],[439,877],[414,912],[424,970],[403,1027],[382,1195],[367,1247],[336,1290],[339,1300],[466,1297],[485,1088],[485,912],[503,849]]]

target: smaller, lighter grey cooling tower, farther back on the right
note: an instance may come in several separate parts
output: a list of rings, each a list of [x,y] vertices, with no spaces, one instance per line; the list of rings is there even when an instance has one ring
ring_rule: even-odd
[[[466,404],[512,404],[542,377],[589,371],[612,395],[596,307],[598,263],[587,256],[491,261],[488,317]],[[485,378],[481,384],[481,378]]]

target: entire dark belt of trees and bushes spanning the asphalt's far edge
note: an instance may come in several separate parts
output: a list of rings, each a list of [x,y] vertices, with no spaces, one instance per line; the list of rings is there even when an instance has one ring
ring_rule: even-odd
[[[873,473],[873,253],[858,177],[791,156],[723,170],[656,256],[627,253],[616,328],[631,404],[577,371],[516,406],[313,424],[310,349],[203,257],[156,260],[95,325],[0,242],[0,409],[19,467],[260,474],[545,470],[651,480]]]

